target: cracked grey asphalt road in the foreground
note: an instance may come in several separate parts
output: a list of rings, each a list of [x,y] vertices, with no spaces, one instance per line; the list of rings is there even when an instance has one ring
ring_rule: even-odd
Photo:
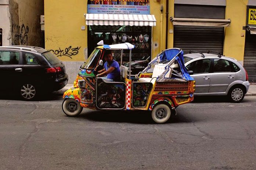
[[[256,97],[196,98],[166,124],[147,112],[62,112],[0,99],[0,169],[256,169]]]

